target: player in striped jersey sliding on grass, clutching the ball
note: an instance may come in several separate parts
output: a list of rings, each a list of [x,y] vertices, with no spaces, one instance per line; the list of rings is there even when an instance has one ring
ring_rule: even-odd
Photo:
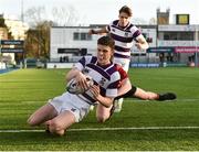
[[[88,89],[83,94],[69,91],[57,96],[30,118],[30,126],[44,123],[50,133],[63,135],[65,130],[75,122],[80,122],[90,111],[91,105],[97,104],[97,120],[103,122],[113,106],[113,99],[117,96],[119,73],[112,63],[114,54],[114,40],[102,36],[97,41],[97,56],[84,56],[66,74],[66,80],[76,78],[82,88]],[[83,74],[84,73],[84,74]],[[94,85],[87,88],[86,75],[93,78]]]

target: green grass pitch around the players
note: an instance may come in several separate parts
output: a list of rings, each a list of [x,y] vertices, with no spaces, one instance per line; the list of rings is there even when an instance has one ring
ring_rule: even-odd
[[[31,130],[28,117],[49,98],[64,91],[65,69],[20,69],[0,75],[0,131]],[[121,113],[100,124],[95,111],[72,129],[199,127],[199,68],[134,68],[132,83],[146,90],[175,91],[175,101],[126,99]],[[33,128],[33,129],[41,129]],[[0,132],[0,151],[198,151],[199,129]]]

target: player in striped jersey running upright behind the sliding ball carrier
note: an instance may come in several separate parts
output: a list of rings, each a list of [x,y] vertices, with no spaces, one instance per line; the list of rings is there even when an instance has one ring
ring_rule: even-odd
[[[114,63],[121,64],[123,68],[128,72],[129,62],[130,62],[130,48],[134,44],[138,50],[147,50],[148,43],[140,33],[139,29],[132,24],[130,18],[133,13],[130,8],[124,6],[119,10],[118,20],[111,22],[100,30],[90,30],[88,34],[102,34],[109,33],[109,35],[115,40],[115,53],[114,53]],[[117,102],[116,112],[122,110],[123,99],[119,99]]]

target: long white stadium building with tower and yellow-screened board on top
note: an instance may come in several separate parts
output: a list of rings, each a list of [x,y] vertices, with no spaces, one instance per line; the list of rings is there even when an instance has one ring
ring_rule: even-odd
[[[176,14],[169,24],[169,11],[157,9],[157,24],[137,25],[149,43],[147,51],[132,48],[134,67],[195,66],[198,65],[199,24],[189,24],[189,14]],[[52,63],[76,62],[82,55],[96,53],[96,40],[102,35],[88,35],[90,26],[52,26],[50,61]]]

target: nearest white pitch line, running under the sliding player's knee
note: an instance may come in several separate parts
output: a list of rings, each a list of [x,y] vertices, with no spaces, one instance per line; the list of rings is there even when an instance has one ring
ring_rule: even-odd
[[[199,129],[199,127],[130,127],[130,128],[82,128],[82,129],[69,129],[67,131],[114,131],[114,130],[178,130],[178,129]],[[44,130],[3,130],[0,132],[44,132]]]

